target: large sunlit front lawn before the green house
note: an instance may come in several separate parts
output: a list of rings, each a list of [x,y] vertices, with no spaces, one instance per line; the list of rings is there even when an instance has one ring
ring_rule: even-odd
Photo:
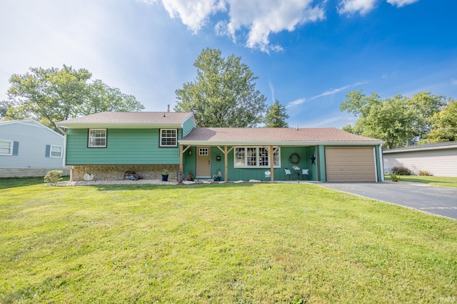
[[[0,303],[456,301],[457,221],[316,184],[0,198]]]

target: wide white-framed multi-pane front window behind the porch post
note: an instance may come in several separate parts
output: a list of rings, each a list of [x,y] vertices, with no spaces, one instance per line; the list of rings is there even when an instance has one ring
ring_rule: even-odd
[[[273,167],[281,167],[279,159],[279,149],[277,149],[273,154]],[[233,162],[236,168],[269,168],[270,156],[264,147],[236,147]]]

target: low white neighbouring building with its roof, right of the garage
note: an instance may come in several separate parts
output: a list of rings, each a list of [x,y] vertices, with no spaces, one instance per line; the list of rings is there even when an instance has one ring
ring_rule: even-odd
[[[457,177],[457,142],[436,142],[383,151],[384,167],[404,166],[413,174],[428,171],[436,177]]]

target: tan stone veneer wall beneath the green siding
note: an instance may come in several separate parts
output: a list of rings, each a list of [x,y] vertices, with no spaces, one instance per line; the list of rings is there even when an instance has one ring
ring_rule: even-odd
[[[178,164],[116,164],[116,165],[76,165],[71,169],[71,182],[84,181],[84,174],[90,173],[94,181],[114,181],[124,179],[127,171],[134,171],[142,179],[162,179],[162,170],[169,170],[169,180],[176,180]]]

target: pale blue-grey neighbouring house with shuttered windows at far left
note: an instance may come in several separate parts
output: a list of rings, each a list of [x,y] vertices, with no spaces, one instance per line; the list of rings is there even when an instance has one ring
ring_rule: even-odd
[[[64,174],[64,136],[35,120],[0,122],[0,177],[44,177]]]

